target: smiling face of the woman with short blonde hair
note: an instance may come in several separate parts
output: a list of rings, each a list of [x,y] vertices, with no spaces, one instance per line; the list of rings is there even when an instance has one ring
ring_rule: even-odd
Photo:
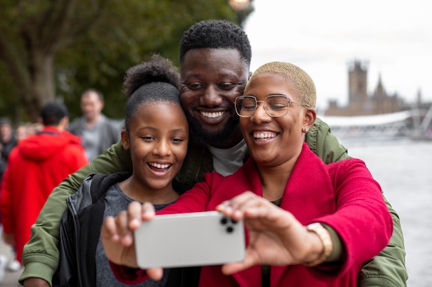
[[[260,74],[251,78],[244,95],[252,95],[263,100],[271,94],[284,94],[293,102],[300,99],[290,92],[284,76],[277,74]],[[302,105],[291,104],[285,116],[274,118],[268,116],[264,103],[258,103],[251,118],[240,118],[244,140],[254,160],[266,167],[277,167],[288,161],[297,160],[304,134],[302,128],[310,128],[308,113],[303,114]],[[313,123],[312,123],[313,125]]]

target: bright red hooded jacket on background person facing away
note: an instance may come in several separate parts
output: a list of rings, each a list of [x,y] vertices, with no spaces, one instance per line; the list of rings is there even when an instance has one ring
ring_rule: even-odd
[[[86,164],[81,139],[55,127],[45,127],[12,149],[1,182],[0,212],[4,232],[14,234],[18,260],[52,189]]]

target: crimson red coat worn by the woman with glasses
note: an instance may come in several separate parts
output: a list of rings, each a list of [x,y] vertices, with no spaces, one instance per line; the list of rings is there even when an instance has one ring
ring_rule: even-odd
[[[244,191],[262,195],[252,159],[226,178],[207,173],[204,182],[158,214],[214,210],[217,204]],[[271,286],[357,286],[362,262],[380,253],[393,233],[393,221],[380,185],[373,180],[364,162],[351,159],[326,165],[306,144],[286,184],[281,208],[293,213],[304,225],[322,222],[334,228],[344,244],[346,257],[344,264],[333,272],[323,266],[272,266]],[[114,264],[112,268],[128,284],[148,278],[144,270],[131,275],[130,269]],[[233,276],[222,275],[221,266],[204,266],[201,270],[199,286],[261,286],[260,266]]]

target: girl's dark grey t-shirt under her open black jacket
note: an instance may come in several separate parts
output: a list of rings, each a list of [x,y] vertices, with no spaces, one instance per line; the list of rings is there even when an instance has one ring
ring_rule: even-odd
[[[124,211],[128,208],[128,204],[132,202],[132,198],[129,198],[123,191],[121,191],[119,184],[113,184],[108,191],[106,191],[105,197],[105,212],[104,219],[109,216],[116,216],[120,211]],[[163,209],[169,204],[155,204],[156,211]],[[108,258],[105,255],[104,247],[102,246],[101,238],[96,248],[96,286],[98,287],[164,287],[168,280],[169,269],[164,269],[164,277],[160,281],[153,281],[148,279],[141,284],[128,285],[122,284],[115,279],[114,274],[108,263]]]

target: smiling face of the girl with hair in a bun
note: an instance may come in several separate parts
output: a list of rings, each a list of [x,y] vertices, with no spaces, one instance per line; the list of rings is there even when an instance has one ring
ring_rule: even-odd
[[[173,103],[143,104],[128,129],[121,140],[124,149],[130,149],[133,180],[148,190],[172,189],[188,148],[183,109]]]

